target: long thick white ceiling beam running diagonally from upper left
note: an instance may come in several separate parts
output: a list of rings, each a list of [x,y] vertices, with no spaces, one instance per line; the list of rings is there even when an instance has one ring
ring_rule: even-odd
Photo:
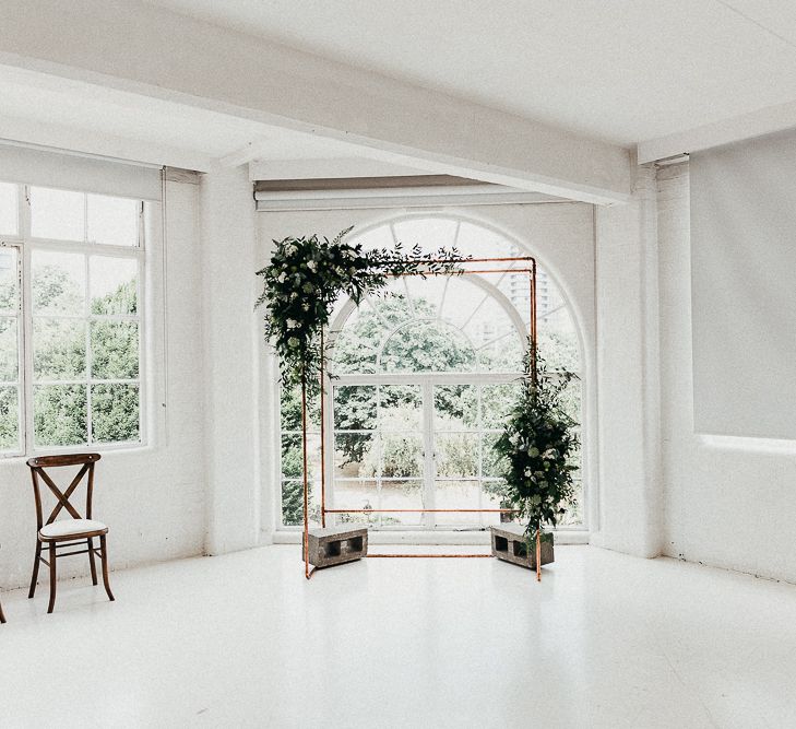
[[[594,203],[630,195],[621,146],[134,0],[3,0],[0,63],[349,142],[438,174]]]

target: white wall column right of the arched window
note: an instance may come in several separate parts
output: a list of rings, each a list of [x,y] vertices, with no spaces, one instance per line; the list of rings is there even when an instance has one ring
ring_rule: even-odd
[[[595,208],[599,527],[592,543],[662,550],[655,174],[638,167],[627,205]]]

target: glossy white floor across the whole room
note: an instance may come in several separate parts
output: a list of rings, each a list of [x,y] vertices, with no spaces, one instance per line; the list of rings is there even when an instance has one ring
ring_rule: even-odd
[[[449,548],[450,549],[450,548]],[[796,727],[796,587],[557,549],[366,560],[296,546],[2,595],[0,726]]]

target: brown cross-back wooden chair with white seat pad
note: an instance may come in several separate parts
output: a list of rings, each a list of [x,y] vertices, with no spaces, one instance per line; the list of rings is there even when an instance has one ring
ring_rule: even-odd
[[[38,565],[44,562],[50,568],[50,603],[47,612],[52,612],[56,604],[56,580],[57,571],[56,562],[58,557],[71,556],[73,554],[88,554],[88,563],[92,569],[92,583],[97,584],[97,567],[95,555],[102,560],[103,583],[108,598],[112,601],[114,593],[110,591],[108,583],[108,550],[105,543],[105,537],[108,533],[108,527],[102,521],[92,519],[92,497],[94,495],[94,465],[99,460],[99,454],[73,454],[63,456],[41,456],[39,458],[31,458],[27,465],[31,467],[31,477],[33,479],[33,492],[36,497],[36,522],[38,528],[36,541],[36,558],[33,563],[33,577],[31,578],[31,590],[28,598],[33,598],[36,593],[36,580],[38,579]],[[72,479],[66,491],[61,491],[52,481],[45,469],[60,468],[62,466],[80,466],[81,469]],[[84,519],[80,512],[70,503],[72,494],[87,475],[87,489],[85,501]],[[55,508],[47,517],[47,521],[43,519],[41,513],[41,493],[39,479],[47,484],[55,497],[58,499]],[[60,519],[56,521],[56,517],[66,509],[71,518]],[[99,538],[99,550],[94,548],[94,540]],[[48,549],[48,558],[41,556],[44,545]],[[59,550],[68,550],[74,546],[84,546],[86,549],[76,552],[59,552]]]

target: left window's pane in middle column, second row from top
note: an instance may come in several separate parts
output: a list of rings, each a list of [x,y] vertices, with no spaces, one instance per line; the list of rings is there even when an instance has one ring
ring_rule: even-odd
[[[85,257],[35,250],[33,262],[34,314],[85,314]]]

